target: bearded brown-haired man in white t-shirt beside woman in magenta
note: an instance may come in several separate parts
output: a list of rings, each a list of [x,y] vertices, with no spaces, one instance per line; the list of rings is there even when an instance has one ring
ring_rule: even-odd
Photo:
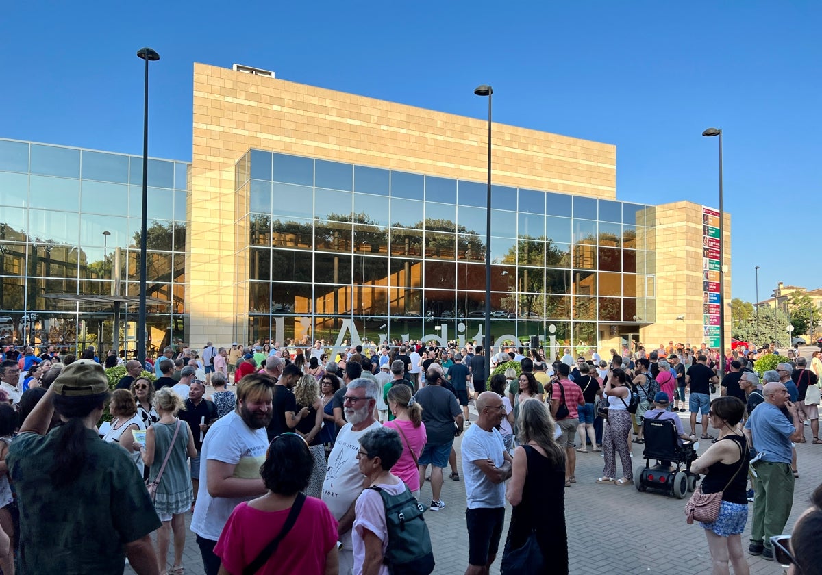
[[[205,435],[200,456],[205,464],[192,517],[205,575],[219,571],[214,546],[231,512],[242,501],[266,493],[260,466],[266,461],[273,389],[266,375],[246,375],[237,390],[237,409],[215,421]]]

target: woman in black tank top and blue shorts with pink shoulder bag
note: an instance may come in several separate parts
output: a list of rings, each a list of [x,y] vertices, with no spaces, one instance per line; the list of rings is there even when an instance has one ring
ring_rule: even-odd
[[[711,402],[708,419],[719,431],[717,442],[691,463],[690,470],[704,475],[702,492],[722,491],[719,517],[711,523],[702,523],[708,538],[708,549],[713,559],[713,575],[733,573],[747,575],[750,568],[742,550],[741,534],[748,519],[748,462],[750,453],[745,435],[737,424],[745,413],[745,404],[726,395]]]

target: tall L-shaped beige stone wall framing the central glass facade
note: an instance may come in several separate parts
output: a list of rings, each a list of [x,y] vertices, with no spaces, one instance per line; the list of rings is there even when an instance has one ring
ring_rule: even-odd
[[[467,92],[466,111],[483,113]],[[249,148],[483,182],[487,122],[229,69],[194,65],[191,257],[186,294],[192,345],[231,343],[235,312],[234,164]],[[492,180],[616,198],[614,145],[493,124]],[[235,237],[236,236],[236,237]],[[244,329],[237,336],[245,338]]]

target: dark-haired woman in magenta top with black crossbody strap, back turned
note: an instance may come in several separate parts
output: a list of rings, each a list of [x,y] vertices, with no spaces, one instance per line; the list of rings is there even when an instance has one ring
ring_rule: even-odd
[[[242,575],[258,557],[262,564],[255,573],[339,573],[337,521],[321,499],[300,493],[313,468],[314,458],[302,436],[289,431],[271,441],[260,467],[268,492],[238,504],[215,545],[214,552],[222,561],[220,575]],[[261,556],[282,534],[293,508],[293,527],[272,553]]]

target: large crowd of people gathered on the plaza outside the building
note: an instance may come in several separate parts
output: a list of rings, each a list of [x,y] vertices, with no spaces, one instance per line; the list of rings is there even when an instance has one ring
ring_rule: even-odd
[[[783,530],[798,476],[792,442],[806,440],[806,419],[810,441],[822,443],[819,354],[785,357],[763,385],[752,367],[767,349],[727,354],[722,380],[707,347],[611,352],[603,360],[567,348],[550,361],[510,347],[486,358],[479,345],[412,341],[330,357],[319,341],[250,351],[209,342],[200,354],[165,348],[148,375],[122,362],[127,375],[111,391],[94,350],[78,360],[26,349],[0,363],[0,393],[14,406],[0,403],[0,568],[122,573],[127,559],[137,573],[180,575],[192,513],[208,575],[390,573],[400,561],[391,539],[401,536],[390,509],[412,521],[446,512],[447,468],[466,493],[466,573],[488,573],[500,552],[515,572],[525,550],[529,573],[567,573],[565,494],[585,480],[578,453],[603,456],[602,476],[587,481],[634,485],[632,448],[649,416],[674,420],[683,441],[709,440],[692,469],[704,493],[723,493],[717,520],[702,526],[713,573],[749,573],[749,499],[748,553],[814,564],[815,547]],[[498,373],[487,374],[487,359]],[[699,435],[686,435],[686,410]],[[818,526],[819,493],[795,534]],[[427,565],[427,527],[419,532],[412,559]],[[113,534],[121,545],[108,545]],[[533,550],[546,560],[533,563]]]

